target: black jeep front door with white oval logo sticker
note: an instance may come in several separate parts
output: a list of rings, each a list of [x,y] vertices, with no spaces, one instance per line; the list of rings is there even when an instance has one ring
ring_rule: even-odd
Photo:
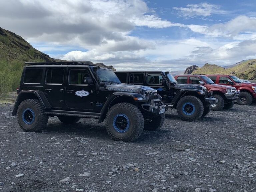
[[[65,103],[68,110],[93,112],[95,109],[95,82],[85,84],[84,77],[91,77],[88,68],[68,67]]]

